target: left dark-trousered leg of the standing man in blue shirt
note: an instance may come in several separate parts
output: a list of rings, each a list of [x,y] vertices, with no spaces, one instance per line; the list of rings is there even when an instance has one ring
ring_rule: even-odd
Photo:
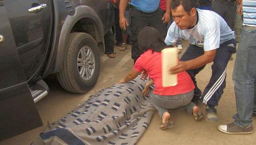
[[[131,8],[131,31],[132,34],[130,36],[130,39],[132,41],[132,59],[134,63],[139,58],[139,56],[142,54],[142,52],[139,50],[138,45],[138,33],[141,29],[148,26],[147,22],[147,15],[146,13],[143,13],[136,8]]]

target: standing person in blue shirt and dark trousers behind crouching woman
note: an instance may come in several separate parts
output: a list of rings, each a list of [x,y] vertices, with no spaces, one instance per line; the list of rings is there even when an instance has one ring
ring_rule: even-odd
[[[146,26],[152,26],[159,31],[162,38],[166,36],[166,25],[164,23],[169,22],[170,19],[170,3],[171,0],[166,0],[166,13],[162,17],[162,10],[159,7],[160,0],[131,0],[131,28],[132,35],[130,40],[132,41],[132,59],[134,63],[139,58],[142,52],[138,47],[137,35],[141,29]],[[120,27],[126,29],[129,25],[125,18],[124,12],[127,5],[127,0],[120,0],[119,12],[120,12]]]

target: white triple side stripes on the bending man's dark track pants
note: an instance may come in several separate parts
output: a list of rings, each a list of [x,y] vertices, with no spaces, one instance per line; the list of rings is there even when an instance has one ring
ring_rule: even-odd
[[[226,68],[227,69],[227,68]],[[218,80],[214,83],[211,89],[207,92],[207,94],[203,98],[203,104],[207,105],[207,101],[210,100],[215,91],[219,88],[219,86],[223,83],[226,77],[226,69],[223,71],[222,75],[218,78]]]

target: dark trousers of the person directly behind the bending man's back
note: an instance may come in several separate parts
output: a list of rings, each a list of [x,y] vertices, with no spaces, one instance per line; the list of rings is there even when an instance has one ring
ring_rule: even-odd
[[[211,4],[211,10],[220,15],[229,27],[233,30],[235,26],[235,16],[237,7],[235,1],[226,2],[224,0],[215,0]]]

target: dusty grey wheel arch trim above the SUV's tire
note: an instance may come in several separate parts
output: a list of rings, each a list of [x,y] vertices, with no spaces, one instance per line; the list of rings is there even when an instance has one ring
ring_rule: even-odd
[[[90,34],[97,42],[99,54],[104,54],[104,30],[101,19],[98,17],[98,14],[88,6],[76,7],[75,14],[68,15],[65,19],[59,34],[53,72],[60,71],[63,64],[64,48],[69,38],[69,34],[73,32]]]

